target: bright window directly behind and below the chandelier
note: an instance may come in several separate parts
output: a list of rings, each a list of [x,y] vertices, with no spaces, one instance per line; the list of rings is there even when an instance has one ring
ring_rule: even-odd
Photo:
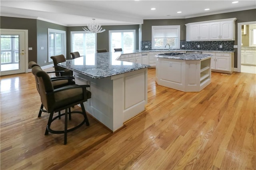
[[[80,55],[94,54],[96,52],[96,33],[85,31],[71,32],[71,51],[78,51]]]

